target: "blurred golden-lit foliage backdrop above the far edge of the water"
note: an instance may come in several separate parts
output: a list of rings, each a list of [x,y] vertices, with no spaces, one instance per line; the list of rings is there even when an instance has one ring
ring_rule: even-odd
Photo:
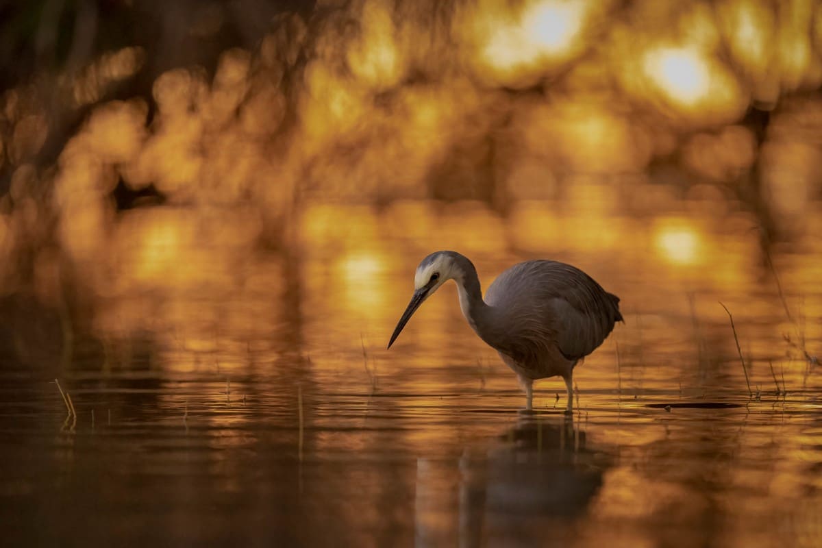
[[[811,0],[0,14],[0,293],[201,280],[192,256],[169,265],[203,246],[224,265],[289,248],[307,205],[479,200],[505,215],[552,200],[584,204],[589,226],[742,207],[771,242],[820,195]]]

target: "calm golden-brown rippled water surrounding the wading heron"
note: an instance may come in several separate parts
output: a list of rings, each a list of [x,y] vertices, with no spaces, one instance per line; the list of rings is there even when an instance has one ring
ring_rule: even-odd
[[[822,338],[817,243],[774,250],[783,304],[742,225],[670,244],[617,219],[616,242],[594,225],[579,251],[482,211],[463,212],[470,232],[423,213],[326,212],[298,259],[216,249],[192,255],[194,281],[136,275],[69,359],[49,351],[61,329],[17,329],[3,544],[819,546],[822,370],[803,354]],[[413,268],[449,247],[484,287],[551,256],[620,295],[626,324],[578,368],[574,417],[558,379],[520,412],[453,287],[386,352]]]

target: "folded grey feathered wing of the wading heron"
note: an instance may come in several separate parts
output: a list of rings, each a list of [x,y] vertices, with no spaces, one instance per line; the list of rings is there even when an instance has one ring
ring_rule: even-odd
[[[488,304],[505,307],[516,329],[510,345],[555,343],[569,360],[587,356],[622,320],[619,298],[582,270],[551,260],[532,260],[506,270],[488,288]],[[533,352],[533,351],[532,351]]]

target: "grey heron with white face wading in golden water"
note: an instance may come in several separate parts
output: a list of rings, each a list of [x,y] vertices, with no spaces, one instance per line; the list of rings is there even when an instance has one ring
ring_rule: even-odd
[[[477,269],[456,251],[436,251],[420,262],[414,292],[388,348],[420,305],[453,279],[459,308],[471,328],[499,353],[533,408],[533,381],[561,376],[573,411],[574,367],[623,321],[619,297],[575,266],[556,260],[527,260],[511,266],[488,287],[483,300]]]

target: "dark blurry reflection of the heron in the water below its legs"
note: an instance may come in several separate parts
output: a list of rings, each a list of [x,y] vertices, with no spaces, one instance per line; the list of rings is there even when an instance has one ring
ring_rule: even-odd
[[[562,546],[612,466],[570,417],[523,416],[500,438],[466,448],[457,463],[418,461],[417,546],[517,546],[518,538],[550,546],[548,531]]]

